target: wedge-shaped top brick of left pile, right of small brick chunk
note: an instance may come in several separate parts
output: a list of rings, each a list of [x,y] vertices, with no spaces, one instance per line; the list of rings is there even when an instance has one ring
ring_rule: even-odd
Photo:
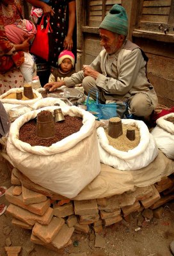
[[[22,186],[22,198],[24,204],[42,203],[47,200],[47,196],[36,193],[28,188],[25,188],[24,186]]]

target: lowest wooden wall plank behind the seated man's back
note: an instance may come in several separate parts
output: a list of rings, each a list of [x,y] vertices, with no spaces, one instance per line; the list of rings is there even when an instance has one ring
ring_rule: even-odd
[[[150,83],[154,85],[155,92],[166,99],[174,100],[173,82],[163,77],[155,76],[148,73],[148,79]]]

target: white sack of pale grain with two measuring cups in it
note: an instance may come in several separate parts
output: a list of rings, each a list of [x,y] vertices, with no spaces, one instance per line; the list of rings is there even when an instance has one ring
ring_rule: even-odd
[[[148,166],[148,164],[154,161],[158,154],[157,145],[153,136],[148,131],[148,127],[143,121],[132,119],[122,119],[122,125],[125,128],[127,125],[131,125],[131,127],[136,127],[138,130],[139,141],[136,147],[132,149],[127,148],[128,150],[125,151],[123,146],[127,138],[125,141],[123,141],[123,137],[121,138],[121,136],[118,137],[119,140],[113,140],[113,143],[115,143],[113,145],[115,147],[109,145],[107,130],[103,127],[99,127],[97,129],[97,135],[99,141],[99,154],[101,163],[108,164],[113,168],[123,171],[139,170],[145,166]],[[125,135],[123,134],[123,136]],[[120,148],[123,149],[120,150]]]

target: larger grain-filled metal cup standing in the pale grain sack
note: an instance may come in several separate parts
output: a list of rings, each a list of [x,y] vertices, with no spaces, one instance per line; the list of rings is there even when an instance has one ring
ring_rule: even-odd
[[[115,118],[110,118],[109,119],[109,126],[108,126],[108,135],[111,138],[118,138],[123,134],[123,127],[122,127],[122,120],[121,118],[116,119]]]

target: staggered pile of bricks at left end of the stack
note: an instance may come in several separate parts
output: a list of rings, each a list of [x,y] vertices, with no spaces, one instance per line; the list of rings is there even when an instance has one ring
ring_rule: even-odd
[[[12,215],[12,224],[31,229],[33,243],[56,252],[72,244],[74,227],[68,227],[63,218],[53,216],[54,209],[47,196],[18,185],[6,191],[6,199],[11,203],[6,212]]]

